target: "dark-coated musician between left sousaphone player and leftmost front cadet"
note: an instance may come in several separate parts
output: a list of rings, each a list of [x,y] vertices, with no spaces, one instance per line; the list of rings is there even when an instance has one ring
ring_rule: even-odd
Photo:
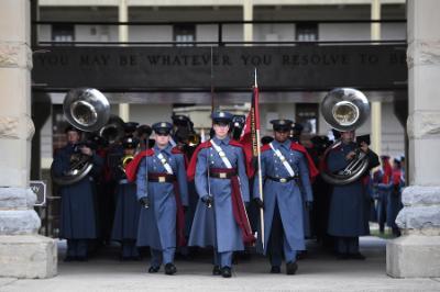
[[[141,206],[136,198],[136,184],[129,182],[125,175],[127,164],[133,158],[138,145],[136,138],[130,136],[123,138],[124,155],[118,168],[113,170],[118,187],[111,239],[121,243],[122,260],[139,259],[136,238]]]

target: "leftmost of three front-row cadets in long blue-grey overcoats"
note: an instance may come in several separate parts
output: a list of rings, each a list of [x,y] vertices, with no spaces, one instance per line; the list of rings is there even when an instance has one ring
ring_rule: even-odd
[[[125,169],[130,181],[136,180],[141,210],[138,246],[150,246],[150,273],[158,272],[165,263],[165,273],[177,272],[174,265],[176,246],[185,245],[184,205],[188,205],[185,157],[169,144],[170,123],[153,126],[155,145],[140,153]]]

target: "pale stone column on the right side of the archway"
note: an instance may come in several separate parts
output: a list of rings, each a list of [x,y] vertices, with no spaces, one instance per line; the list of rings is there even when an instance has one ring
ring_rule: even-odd
[[[388,242],[387,273],[440,277],[440,1],[408,0],[409,187]]]

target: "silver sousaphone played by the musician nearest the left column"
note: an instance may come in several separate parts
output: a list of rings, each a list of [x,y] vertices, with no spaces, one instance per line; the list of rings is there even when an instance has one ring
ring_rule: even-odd
[[[95,132],[107,124],[110,116],[110,104],[107,98],[97,89],[75,88],[65,97],[63,110],[67,121],[85,132]],[[51,169],[52,180],[59,186],[68,186],[80,181],[92,168],[90,157],[80,151],[78,145],[70,156],[69,169],[62,176],[56,176]]]

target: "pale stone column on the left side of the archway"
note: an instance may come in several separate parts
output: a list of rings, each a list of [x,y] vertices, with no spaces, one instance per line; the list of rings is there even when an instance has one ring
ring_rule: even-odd
[[[37,235],[41,222],[29,189],[31,138],[30,1],[0,2],[0,277],[56,274],[53,239]]]

